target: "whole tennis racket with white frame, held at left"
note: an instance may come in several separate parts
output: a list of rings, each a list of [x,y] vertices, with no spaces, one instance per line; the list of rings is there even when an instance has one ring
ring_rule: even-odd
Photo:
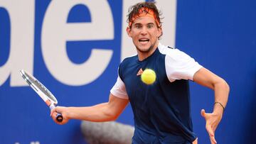
[[[33,77],[31,74],[28,74],[25,70],[20,71],[21,76],[25,81],[28,83],[28,85],[43,99],[43,101],[46,102],[47,106],[49,106],[50,110],[55,108],[55,105],[58,104],[57,99],[53,94],[41,83]],[[63,121],[63,116],[58,113],[56,116],[56,120],[58,122]]]

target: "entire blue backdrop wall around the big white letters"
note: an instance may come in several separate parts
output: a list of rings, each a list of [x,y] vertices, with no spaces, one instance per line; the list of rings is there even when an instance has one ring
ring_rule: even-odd
[[[62,106],[90,106],[108,100],[108,94],[117,77],[121,36],[126,33],[122,31],[122,16],[126,15],[122,15],[124,1],[107,2],[112,11],[114,38],[68,40],[65,46],[70,61],[78,65],[89,59],[93,48],[112,50],[111,60],[100,77],[93,82],[70,86],[63,84],[50,73],[43,58],[41,35],[50,1],[35,1],[35,9],[32,11],[35,14],[33,74],[46,84]],[[13,3],[15,6],[15,1]],[[0,0],[0,79],[5,79],[3,70],[11,69],[4,66],[7,65],[11,53],[11,31],[14,31],[11,29],[11,23],[14,22],[9,18],[8,9],[1,4],[4,4],[4,1]],[[230,85],[228,106],[216,131],[215,138],[218,143],[253,143],[252,138],[256,136],[255,7],[256,2],[252,0],[177,1],[176,48],[194,57]],[[81,16],[81,13],[85,15]],[[168,18],[168,13],[164,13],[164,16]],[[91,21],[90,9],[77,5],[70,11],[67,23]],[[18,42],[22,42],[26,35],[28,33],[22,33],[23,37]],[[27,55],[22,53],[22,57]],[[15,74],[13,76],[11,73],[11,76],[0,84],[0,143],[85,143],[80,133],[80,121],[72,120],[64,126],[56,125],[49,117],[47,106],[35,96],[36,93],[32,89],[22,84],[11,85],[11,79],[17,82],[20,80],[14,77]],[[213,101],[213,92],[210,89],[191,82],[193,128],[198,134],[199,143],[210,143],[205,120],[200,111],[206,109],[206,112],[210,112]],[[130,106],[117,121],[133,124]]]

